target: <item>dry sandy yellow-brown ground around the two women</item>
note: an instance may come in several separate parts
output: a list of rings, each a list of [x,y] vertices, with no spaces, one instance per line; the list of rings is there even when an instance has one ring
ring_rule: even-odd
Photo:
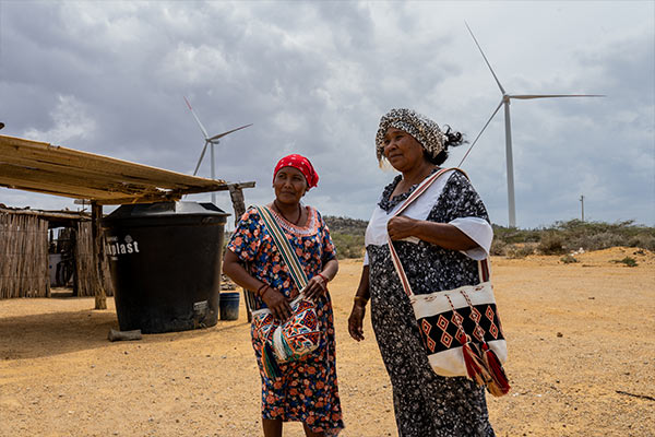
[[[499,436],[655,435],[655,256],[614,248],[495,258],[512,391],[488,399]],[[631,256],[635,268],[612,262]],[[346,429],[395,436],[391,387],[367,316],[347,335],[360,261],[331,284]],[[0,300],[0,436],[257,436],[260,381],[238,321],[107,341],[118,329],[92,298]],[[301,436],[297,423],[286,436]]]

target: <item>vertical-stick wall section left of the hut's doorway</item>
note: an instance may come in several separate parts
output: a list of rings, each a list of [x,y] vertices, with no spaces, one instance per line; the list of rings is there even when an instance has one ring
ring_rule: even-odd
[[[0,213],[0,299],[49,294],[48,222]]]

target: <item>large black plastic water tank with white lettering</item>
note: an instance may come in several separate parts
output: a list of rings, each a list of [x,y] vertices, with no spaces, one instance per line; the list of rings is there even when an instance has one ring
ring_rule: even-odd
[[[157,202],[103,218],[121,331],[216,324],[228,215],[213,203]]]

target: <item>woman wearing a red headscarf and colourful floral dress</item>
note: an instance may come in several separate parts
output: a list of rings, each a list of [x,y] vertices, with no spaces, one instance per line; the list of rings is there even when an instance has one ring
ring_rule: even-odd
[[[265,437],[282,436],[283,422],[302,422],[306,436],[336,436],[344,427],[336,379],[332,304],[327,283],[338,262],[330,231],[321,214],[300,200],[317,186],[319,175],[308,158],[285,156],[275,166],[275,200],[267,208],[284,229],[309,280],[305,295],[317,305],[324,333],[319,347],[300,361],[279,364],[281,376],[267,377],[263,344],[251,328],[252,346],[262,377],[262,426]],[[246,268],[248,265],[248,269]],[[238,285],[255,290],[258,308],[269,308],[278,320],[291,315],[289,302],[299,294],[288,268],[257,209],[241,217],[227,246],[223,271]]]

